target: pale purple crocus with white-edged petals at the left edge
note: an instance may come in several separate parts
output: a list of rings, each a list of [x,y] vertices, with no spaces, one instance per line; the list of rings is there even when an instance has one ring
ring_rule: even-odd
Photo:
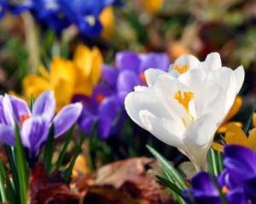
[[[20,127],[22,144],[28,150],[28,156],[34,159],[46,142],[52,124],[55,138],[67,132],[77,122],[82,105],[65,106],[55,116],[55,98],[51,91],[46,91],[36,99],[32,111],[23,99],[13,95],[0,96],[0,141],[15,145],[15,122]]]

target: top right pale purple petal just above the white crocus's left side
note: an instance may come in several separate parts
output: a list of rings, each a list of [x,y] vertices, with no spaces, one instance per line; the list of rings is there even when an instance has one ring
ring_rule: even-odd
[[[149,68],[157,68],[162,71],[167,71],[169,67],[169,57],[167,54],[141,54],[141,65],[139,70],[146,71]]]

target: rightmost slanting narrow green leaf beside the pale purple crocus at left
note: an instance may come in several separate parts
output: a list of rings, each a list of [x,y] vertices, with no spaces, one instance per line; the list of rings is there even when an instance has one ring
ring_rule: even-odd
[[[72,160],[70,161],[68,167],[67,167],[67,170],[65,171],[65,174],[64,174],[64,180],[65,182],[68,184],[69,181],[70,181],[70,177],[71,177],[71,174],[72,174],[72,171],[73,171],[73,166],[75,164],[75,161],[77,160],[77,157],[79,156],[81,150],[82,150],[82,145],[84,143],[84,139],[86,137],[86,134],[82,134],[81,138],[79,139],[79,143],[76,144],[76,150],[75,150],[75,154],[72,158]]]

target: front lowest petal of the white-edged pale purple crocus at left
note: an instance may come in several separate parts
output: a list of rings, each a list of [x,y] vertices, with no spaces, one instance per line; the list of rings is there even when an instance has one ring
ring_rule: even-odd
[[[42,116],[32,116],[21,127],[22,143],[29,150],[30,156],[38,155],[38,152],[49,133],[49,122]]]

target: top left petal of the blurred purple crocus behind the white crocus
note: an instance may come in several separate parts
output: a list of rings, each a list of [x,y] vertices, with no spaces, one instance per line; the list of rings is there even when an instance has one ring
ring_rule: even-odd
[[[116,55],[116,67],[119,70],[129,70],[135,73],[139,72],[140,59],[135,52],[123,51]]]

